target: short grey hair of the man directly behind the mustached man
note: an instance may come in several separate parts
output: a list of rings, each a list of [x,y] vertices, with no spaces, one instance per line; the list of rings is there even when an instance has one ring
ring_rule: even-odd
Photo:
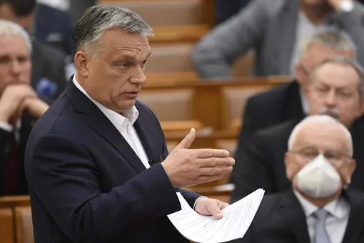
[[[335,27],[320,28],[308,41],[302,46],[300,55],[304,56],[308,47],[313,44],[320,44],[329,49],[352,53],[356,59],[356,47],[353,40],[344,31]]]

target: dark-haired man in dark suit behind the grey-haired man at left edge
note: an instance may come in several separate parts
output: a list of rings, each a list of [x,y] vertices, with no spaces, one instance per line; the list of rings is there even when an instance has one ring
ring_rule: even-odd
[[[14,21],[29,34],[33,32],[35,16],[35,0],[0,0],[0,19]],[[50,104],[66,88],[66,55],[36,39],[32,44],[31,86],[41,99]]]

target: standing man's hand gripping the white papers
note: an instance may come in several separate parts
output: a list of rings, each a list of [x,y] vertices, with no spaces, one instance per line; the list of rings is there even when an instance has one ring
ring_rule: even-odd
[[[221,219],[223,217],[221,210],[228,207],[228,205],[226,202],[221,202],[218,199],[200,197],[197,199],[195,211],[199,214],[212,215],[216,219]]]

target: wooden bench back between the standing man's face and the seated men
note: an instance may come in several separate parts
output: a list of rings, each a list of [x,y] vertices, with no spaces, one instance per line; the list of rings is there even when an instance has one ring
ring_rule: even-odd
[[[169,79],[147,82],[138,99],[148,104],[161,122],[198,121],[213,131],[238,130],[248,97],[287,81],[287,76],[235,81]]]

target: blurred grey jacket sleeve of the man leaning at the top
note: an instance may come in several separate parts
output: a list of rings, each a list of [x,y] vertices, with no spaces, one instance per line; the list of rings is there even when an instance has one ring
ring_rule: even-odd
[[[233,62],[261,41],[268,19],[266,9],[267,1],[251,1],[197,44],[192,60],[202,78],[231,78]]]

